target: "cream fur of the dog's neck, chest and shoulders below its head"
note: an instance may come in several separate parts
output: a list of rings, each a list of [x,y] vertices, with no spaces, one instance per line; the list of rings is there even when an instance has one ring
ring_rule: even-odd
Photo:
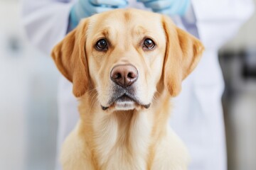
[[[183,142],[169,128],[167,120],[161,122],[164,134],[152,136],[155,115],[168,114],[167,108],[161,111],[162,107],[159,104],[145,111],[106,114],[105,111],[98,110],[85,113],[85,118],[90,120],[85,122],[80,120],[64,142],[60,159],[63,168],[67,170],[186,169],[188,152]],[[159,112],[155,113],[155,111]],[[84,112],[87,112],[87,105],[81,104],[80,113]],[[93,132],[88,132],[89,129]],[[86,132],[88,134],[83,135]],[[150,155],[152,145],[154,156]],[[149,160],[150,157],[154,158]]]

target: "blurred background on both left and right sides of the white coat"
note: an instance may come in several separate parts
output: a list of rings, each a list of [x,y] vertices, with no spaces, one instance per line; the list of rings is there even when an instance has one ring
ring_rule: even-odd
[[[0,169],[54,169],[59,74],[26,40],[18,0],[0,0],[0,21]],[[256,14],[220,50],[229,170],[256,169],[255,30]]]

